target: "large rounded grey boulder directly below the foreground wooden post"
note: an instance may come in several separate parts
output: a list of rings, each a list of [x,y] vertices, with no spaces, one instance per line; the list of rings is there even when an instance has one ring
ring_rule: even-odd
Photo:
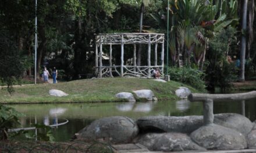
[[[244,135],[224,126],[210,124],[190,134],[198,145],[209,150],[239,150],[247,148]]]

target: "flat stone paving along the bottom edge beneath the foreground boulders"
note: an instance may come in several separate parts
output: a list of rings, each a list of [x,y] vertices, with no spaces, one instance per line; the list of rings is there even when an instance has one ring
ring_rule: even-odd
[[[149,151],[141,144],[116,144],[112,145],[113,149],[118,153],[163,153],[162,151]],[[256,149],[246,150],[209,150],[209,151],[177,151],[171,153],[256,153]]]

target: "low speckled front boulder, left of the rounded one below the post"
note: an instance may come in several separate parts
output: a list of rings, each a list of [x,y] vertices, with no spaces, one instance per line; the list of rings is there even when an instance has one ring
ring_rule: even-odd
[[[151,151],[205,150],[183,133],[147,133],[137,139]]]

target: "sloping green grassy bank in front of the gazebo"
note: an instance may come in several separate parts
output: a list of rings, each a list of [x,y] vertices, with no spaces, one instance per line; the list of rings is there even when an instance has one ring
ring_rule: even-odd
[[[151,89],[158,100],[177,99],[175,90],[183,83],[170,81],[167,83],[139,78],[103,78],[84,79],[78,81],[62,82],[57,84],[39,84],[30,86],[17,86],[10,95],[6,90],[0,90],[0,103],[74,103],[97,101],[120,101],[115,97],[119,92],[132,92],[133,90]],[[187,86],[192,92],[199,92]],[[50,89],[62,90],[69,94],[66,97],[49,95]]]

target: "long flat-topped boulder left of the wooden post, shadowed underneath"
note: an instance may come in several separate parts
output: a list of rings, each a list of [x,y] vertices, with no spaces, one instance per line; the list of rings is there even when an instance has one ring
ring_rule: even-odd
[[[141,130],[191,133],[203,125],[202,116],[145,116],[139,118]]]

